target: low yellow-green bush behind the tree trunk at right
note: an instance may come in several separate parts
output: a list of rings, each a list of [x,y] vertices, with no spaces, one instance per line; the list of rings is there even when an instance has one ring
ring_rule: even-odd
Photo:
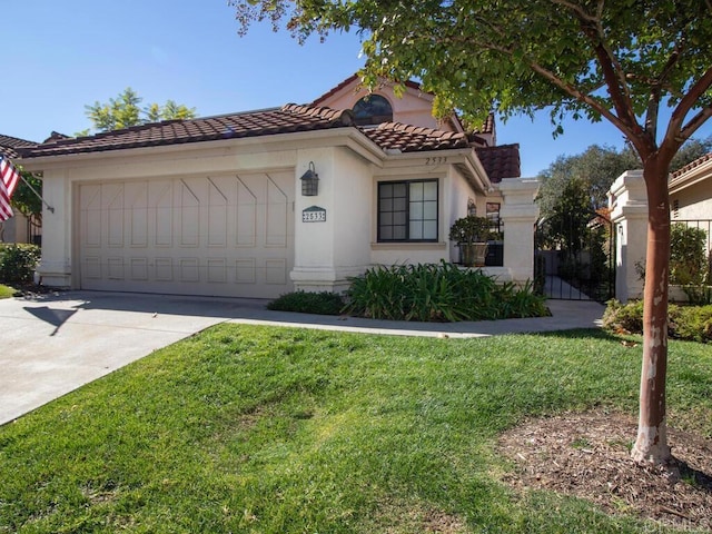
[[[625,305],[611,300],[603,314],[603,327],[607,330],[643,333],[643,303]],[[690,342],[712,342],[712,306],[668,306],[668,335]]]

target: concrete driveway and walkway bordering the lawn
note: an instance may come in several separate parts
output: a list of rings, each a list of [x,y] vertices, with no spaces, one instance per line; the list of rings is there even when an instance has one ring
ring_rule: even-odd
[[[550,300],[552,317],[405,323],[270,312],[266,300],[67,291],[0,299],[0,425],[218,323],[479,337],[600,326],[603,306]]]

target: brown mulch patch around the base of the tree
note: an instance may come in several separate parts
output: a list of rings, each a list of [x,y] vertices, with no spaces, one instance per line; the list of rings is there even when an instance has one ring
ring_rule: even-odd
[[[712,531],[712,441],[669,428],[670,466],[639,465],[630,448],[637,423],[620,414],[566,414],[527,422],[500,438],[517,488],[551,490],[684,528]]]

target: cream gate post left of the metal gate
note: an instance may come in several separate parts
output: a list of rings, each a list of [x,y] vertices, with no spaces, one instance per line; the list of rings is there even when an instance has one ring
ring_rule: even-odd
[[[500,218],[504,226],[504,267],[512,280],[534,280],[534,239],[532,233],[538,218],[534,197],[541,181],[537,178],[505,178],[500,182],[503,197]]]

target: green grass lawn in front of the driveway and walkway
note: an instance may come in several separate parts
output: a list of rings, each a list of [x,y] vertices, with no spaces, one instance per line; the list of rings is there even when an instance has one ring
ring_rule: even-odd
[[[596,330],[221,325],[0,427],[0,533],[666,532],[517,494],[494,451],[527,416],[634,413],[640,357]],[[671,424],[712,437],[712,347],[670,358]]]

